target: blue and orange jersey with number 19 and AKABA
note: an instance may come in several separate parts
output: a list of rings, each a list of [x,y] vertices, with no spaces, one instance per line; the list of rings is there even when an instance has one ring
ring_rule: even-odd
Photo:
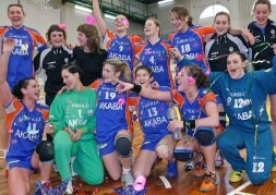
[[[128,93],[116,92],[117,85],[104,83],[103,80],[93,82],[89,87],[98,94],[96,135],[113,135],[119,130],[132,131]]]

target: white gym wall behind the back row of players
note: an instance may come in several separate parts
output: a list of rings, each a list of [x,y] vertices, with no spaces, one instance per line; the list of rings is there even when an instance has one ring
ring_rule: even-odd
[[[134,3],[133,0],[125,0]],[[16,3],[17,0],[0,0],[0,25],[10,25],[10,21],[7,16],[7,8],[10,3]],[[232,27],[245,27],[249,22],[253,20],[251,15],[252,4],[254,0],[175,0],[172,3],[158,5],[157,3],[148,5],[148,12],[157,14],[157,19],[161,23],[161,31],[164,37],[173,31],[170,24],[169,11],[173,5],[184,5],[190,14],[193,16],[193,23],[197,25],[199,17],[202,11],[214,3],[219,3],[226,7],[230,11]],[[61,5],[61,9],[45,9],[44,0],[21,0],[26,12],[25,24],[26,26],[37,29],[43,36],[45,36],[48,27],[51,24],[65,23],[68,25],[68,41],[76,42],[76,27],[86,22],[88,13],[74,10],[73,4],[67,3]],[[118,5],[121,1],[118,0]],[[104,17],[105,19],[105,17]],[[273,7],[271,19],[276,20],[276,5]],[[209,19],[213,21],[213,19]],[[108,27],[113,29],[113,21],[105,19]],[[137,23],[131,23],[129,34],[142,34],[143,25]]]

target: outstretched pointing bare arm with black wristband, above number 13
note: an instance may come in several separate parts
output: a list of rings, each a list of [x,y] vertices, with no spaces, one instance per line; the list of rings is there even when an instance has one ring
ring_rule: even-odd
[[[137,93],[141,96],[148,98],[148,99],[157,99],[157,100],[161,100],[161,101],[172,101],[172,98],[171,98],[171,95],[169,92],[160,92],[160,90],[152,89],[148,87],[143,87],[141,85],[124,83],[121,81],[117,81],[117,82],[119,83],[119,86],[118,86],[119,92],[133,90],[134,93]]]

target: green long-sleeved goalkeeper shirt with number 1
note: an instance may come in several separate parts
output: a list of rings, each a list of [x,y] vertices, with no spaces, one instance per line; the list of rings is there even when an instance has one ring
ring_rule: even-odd
[[[81,129],[81,139],[95,138],[97,93],[92,88],[70,90],[57,95],[50,106],[49,122],[56,134],[65,127]]]

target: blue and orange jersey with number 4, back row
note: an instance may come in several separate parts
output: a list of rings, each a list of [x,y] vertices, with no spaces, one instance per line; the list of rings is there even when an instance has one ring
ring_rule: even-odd
[[[154,71],[154,81],[160,86],[175,87],[175,82],[170,71],[170,53],[171,46],[165,40],[159,40],[155,45],[147,42],[137,46],[136,58],[143,65],[152,68]]]

